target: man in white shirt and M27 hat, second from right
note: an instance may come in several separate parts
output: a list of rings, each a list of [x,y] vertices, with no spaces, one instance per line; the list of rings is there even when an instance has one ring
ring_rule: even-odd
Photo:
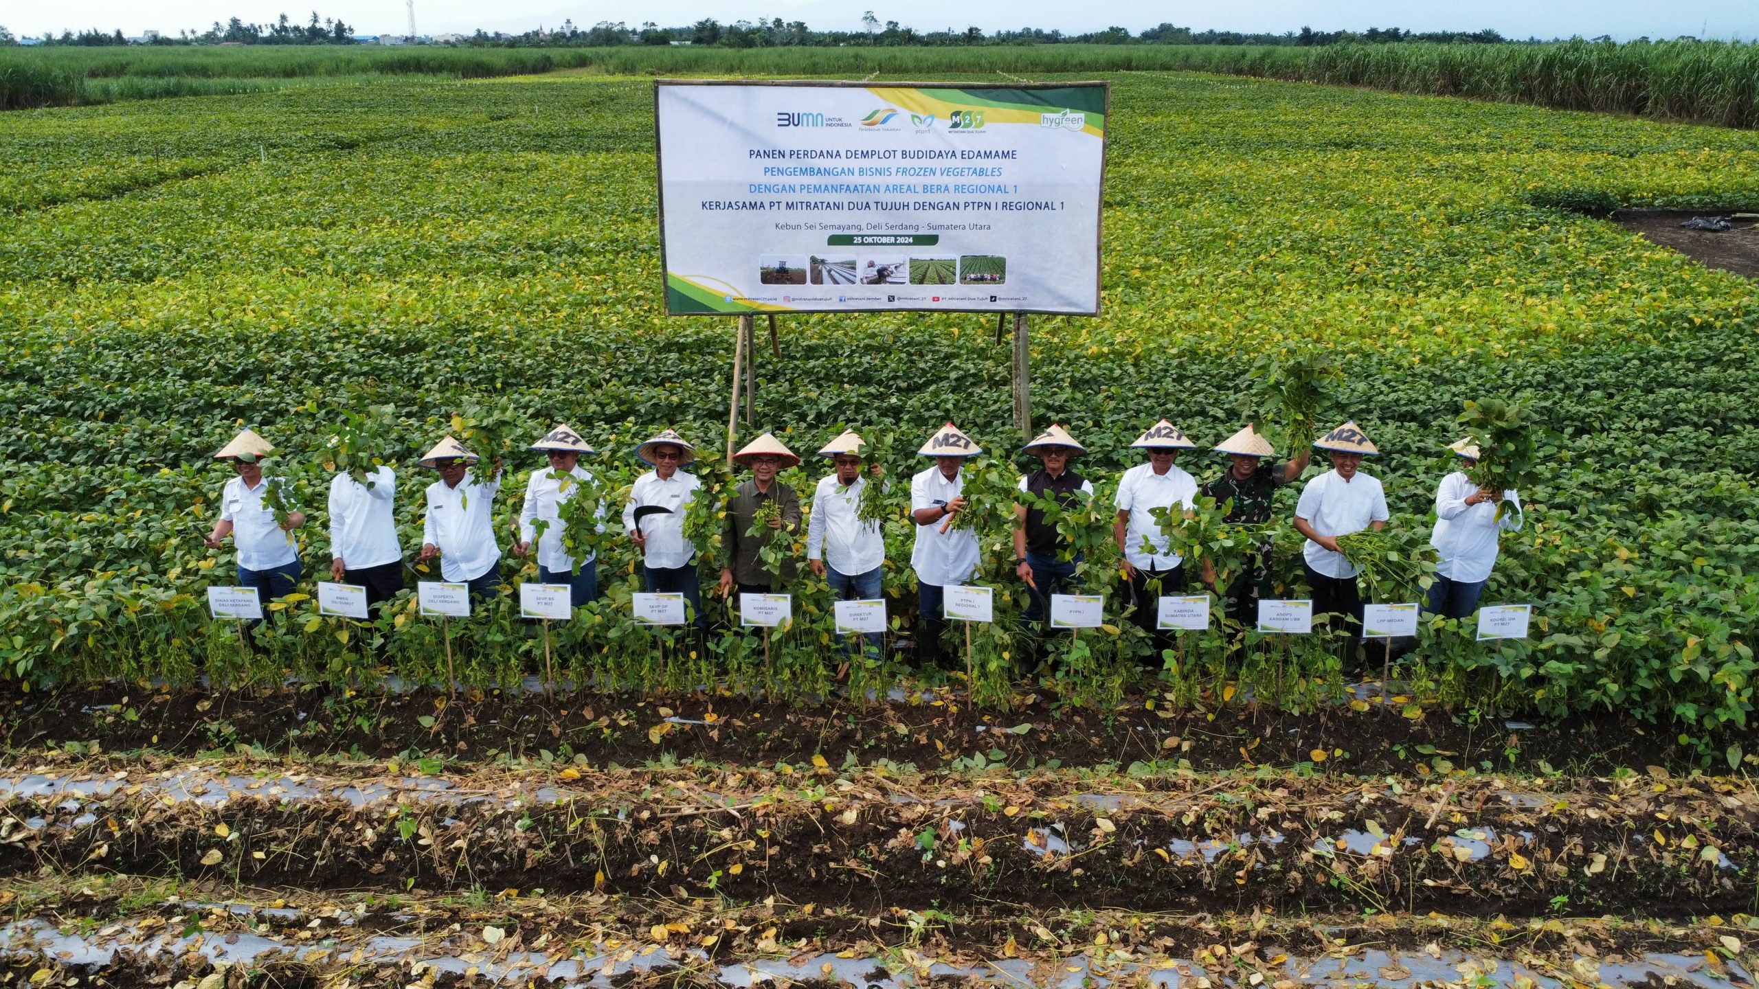
[[[1314,449],[1332,456],[1332,470],[1309,480],[1295,505],[1295,528],[1307,537],[1302,565],[1314,591],[1314,616],[1347,614],[1361,625],[1356,567],[1339,551],[1337,537],[1386,528],[1386,491],[1379,479],[1360,472],[1361,458],[1381,451],[1354,421],[1321,436]]]

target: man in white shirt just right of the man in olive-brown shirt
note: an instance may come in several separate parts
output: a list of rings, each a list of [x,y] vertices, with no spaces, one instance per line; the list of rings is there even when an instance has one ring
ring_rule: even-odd
[[[880,521],[860,519],[867,486],[878,484],[881,468],[872,466],[874,480],[862,477],[864,440],[853,429],[818,451],[830,458],[836,473],[821,477],[813,491],[813,514],[806,523],[806,560],[813,574],[830,582],[837,600],[878,600],[881,595],[881,568],[885,538]],[[827,567],[828,563],[828,567]],[[880,635],[869,634],[871,649],[880,648]]]

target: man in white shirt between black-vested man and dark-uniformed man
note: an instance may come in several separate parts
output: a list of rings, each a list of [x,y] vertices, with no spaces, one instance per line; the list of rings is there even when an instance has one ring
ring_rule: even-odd
[[[1177,465],[1179,451],[1194,451],[1177,426],[1161,419],[1131,447],[1142,449],[1149,463],[1124,472],[1117,482],[1117,521],[1112,535],[1124,553],[1124,575],[1129,579],[1131,621],[1154,641],[1156,658],[1173,646],[1171,632],[1161,632],[1159,598],[1186,590],[1186,567],[1177,553],[1168,551],[1166,533],[1150,516],[1152,509],[1189,509],[1198,494],[1198,482]]]

